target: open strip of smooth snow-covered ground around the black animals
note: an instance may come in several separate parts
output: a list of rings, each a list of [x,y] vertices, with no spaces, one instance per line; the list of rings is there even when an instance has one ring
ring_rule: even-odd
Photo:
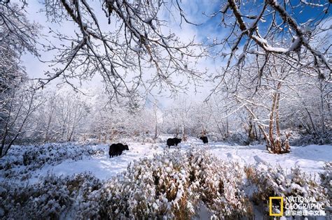
[[[124,171],[128,163],[142,157],[151,157],[163,151],[174,151],[175,147],[168,149],[164,143],[141,143],[127,142],[130,150],[124,151],[122,155],[109,158],[108,145],[99,145],[104,149],[103,156],[83,156],[76,161],[65,159],[55,165],[46,165],[38,170],[32,171],[29,178],[30,183],[38,181],[39,177],[47,173],[55,175],[72,175],[85,171],[93,173],[99,179],[109,179],[117,173]],[[235,160],[241,163],[255,164],[256,162],[270,163],[272,166],[281,166],[290,169],[295,166],[300,167],[305,173],[319,173],[323,171],[324,162],[332,161],[331,145],[309,145],[306,147],[291,147],[289,154],[269,154],[264,145],[254,146],[230,146],[221,142],[210,142],[203,145],[201,140],[189,138],[187,142],[182,142],[177,149],[188,150],[191,147],[204,147],[219,159]],[[1,175],[0,170],[0,177]]]

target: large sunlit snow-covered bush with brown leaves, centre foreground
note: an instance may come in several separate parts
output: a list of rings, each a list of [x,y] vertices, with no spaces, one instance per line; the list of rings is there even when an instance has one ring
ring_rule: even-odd
[[[203,150],[164,152],[130,163],[123,175],[106,183],[109,218],[194,217],[200,203],[217,217],[251,216],[238,185],[240,165],[222,162]]]

